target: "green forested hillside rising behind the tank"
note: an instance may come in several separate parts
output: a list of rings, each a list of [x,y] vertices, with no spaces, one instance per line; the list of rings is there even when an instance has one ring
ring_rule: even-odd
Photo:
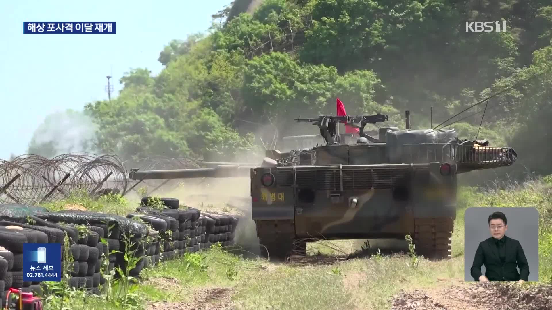
[[[316,133],[293,118],[335,114],[336,98],[403,128],[406,109],[429,127],[433,106],[436,126],[552,67],[550,0],[236,0],[213,17],[210,34],[160,46],[158,76],[135,68],[111,103],[86,105],[97,148],[125,159],[263,149],[275,129]],[[466,32],[471,20],[508,28]],[[518,167],[548,174],[551,102],[548,71],[449,122],[475,138],[487,107],[478,138],[511,143]]]

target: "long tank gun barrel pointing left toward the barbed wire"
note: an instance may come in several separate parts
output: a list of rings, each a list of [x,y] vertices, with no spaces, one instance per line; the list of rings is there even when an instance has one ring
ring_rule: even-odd
[[[215,168],[142,170],[131,169],[131,180],[187,179],[187,178],[233,178],[249,177],[251,167],[242,165],[219,165]]]

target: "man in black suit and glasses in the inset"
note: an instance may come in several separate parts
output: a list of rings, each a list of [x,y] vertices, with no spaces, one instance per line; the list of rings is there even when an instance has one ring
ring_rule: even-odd
[[[529,264],[523,248],[516,239],[505,236],[508,226],[502,212],[489,216],[491,237],[479,243],[471,265],[471,276],[475,281],[528,281]],[[485,275],[481,266],[485,265]],[[519,267],[519,273],[517,268]]]

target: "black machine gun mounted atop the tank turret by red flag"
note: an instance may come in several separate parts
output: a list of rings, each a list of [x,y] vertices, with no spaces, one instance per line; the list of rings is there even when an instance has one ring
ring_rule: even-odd
[[[367,124],[376,124],[378,122],[384,122],[388,120],[387,114],[376,115],[357,115],[357,116],[333,116],[333,115],[320,115],[310,119],[295,119],[297,122],[311,122],[312,125],[316,125],[320,128],[320,135],[324,137],[327,145],[339,143],[336,140],[336,126],[338,122],[342,122],[348,126],[358,128],[359,136],[367,138],[371,142],[379,142],[377,138],[372,137],[364,133],[364,126]]]

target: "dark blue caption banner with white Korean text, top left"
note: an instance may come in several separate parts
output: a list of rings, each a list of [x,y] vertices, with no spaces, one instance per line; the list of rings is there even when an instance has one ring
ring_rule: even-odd
[[[23,22],[23,34],[116,34],[116,22]]]

